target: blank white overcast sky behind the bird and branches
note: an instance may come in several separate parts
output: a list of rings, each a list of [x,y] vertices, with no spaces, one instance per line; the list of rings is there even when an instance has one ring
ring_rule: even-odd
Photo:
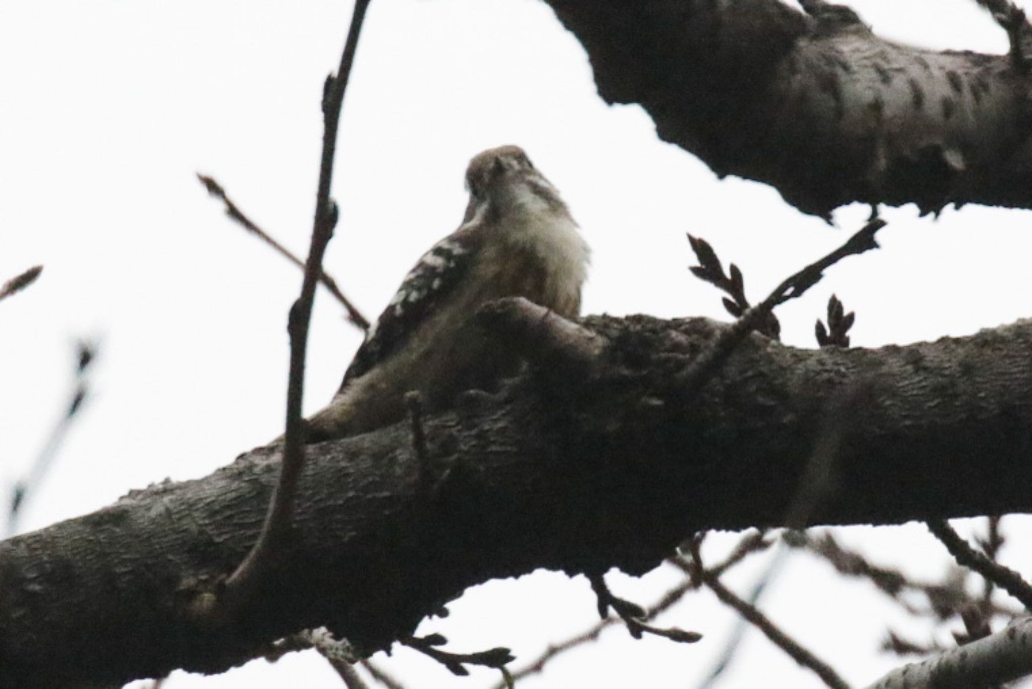
[[[851,5],[898,40],[1006,50],[973,0]],[[350,2],[329,0],[0,3],[0,280],[45,265],[37,284],[0,304],[0,495],[60,414],[72,343],[101,343],[93,395],[32,496],[25,528],[165,477],[205,475],[281,432],[286,313],[300,274],[227,220],[194,174],[214,176],[260,225],[304,253],[319,98],[350,11]],[[685,231],[737,262],[747,292],[762,297],[868,213],[842,209],[841,229],[831,229],[768,187],[718,182],[657,140],[638,106],[598,97],[580,44],[538,0],[375,0],[341,130],[341,223],[325,264],[369,317],[457,225],[469,158],[501,144],[523,146],[583,226],[594,251],[586,313],[725,318],[715,290],[685,270]],[[933,222],[911,206],[883,217],[891,224],[879,233],[881,251],[835,267],[778,312],[786,342],[812,346],[813,320],[832,292],[858,313],[858,346],[970,334],[1030,315],[1027,212],[969,207]],[[359,341],[321,293],[308,410],[329,400]],[[842,534],[875,560],[926,577],[947,564],[912,525]],[[1005,556],[1032,571],[1032,554],[1012,547]],[[728,581],[741,591],[757,571],[744,567]],[[612,585],[649,603],[677,580],[660,570],[641,581],[614,575]],[[886,624],[925,632],[870,587],[802,556],[764,606],[857,684],[898,663],[876,652]],[[509,646],[516,667],[595,619],[582,577],[545,572],[478,587],[451,609],[422,631],[445,633],[459,651]],[[697,594],[662,623],[701,631],[702,643],[636,643],[614,629],[521,686],[695,686],[733,619]],[[479,688],[496,679],[453,678],[405,649],[378,659],[411,687]],[[305,654],[217,678],[176,674],[166,686],[301,684],[341,686]],[[821,685],[753,633],[721,686]]]

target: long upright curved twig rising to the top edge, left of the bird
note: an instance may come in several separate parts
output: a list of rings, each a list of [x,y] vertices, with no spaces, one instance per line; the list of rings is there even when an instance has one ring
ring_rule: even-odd
[[[344,94],[358,48],[362,22],[369,0],[356,0],[351,17],[348,39],[341,55],[341,65],[336,75],[326,77],[323,88],[323,143],[322,159],[319,166],[319,189],[316,195],[315,226],[312,231],[312,246],[304,264],[304,280],[301,295],[290,309],[288,332],[290,334],[290,377],[287,385],[287,430],[284,439],[283,466],[280,480],[272,493],[269,509],[262,525],[261,534],[244,562],[226,581],[218,607],[232,612],[241,601],[248,599],[258,586],[289,533],[297,482],[304,466],[303,422],[301,419],[301,398],[304,389],[304,358],[308,349],[309,322],[312,304],[315,300],[316,282],[322,271],[322,257],[326,245],[333,234],[337,220],[336,203],[330,198],[330,183],[333,176],[333,158],[336,152],[336,131],[344,103]]]

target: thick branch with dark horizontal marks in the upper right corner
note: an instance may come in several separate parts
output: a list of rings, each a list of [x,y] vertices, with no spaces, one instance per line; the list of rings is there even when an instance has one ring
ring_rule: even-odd
[[[665,140],[803,212],[1032,208],[1032,82],[1008,56],[894,43],[835,6],[812,18],[778,0],[547,2],[604,99],[640,103]]]

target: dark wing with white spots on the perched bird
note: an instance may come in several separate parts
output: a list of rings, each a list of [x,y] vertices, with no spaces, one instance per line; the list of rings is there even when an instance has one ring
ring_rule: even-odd
[[[474,262],[479,234],[463,225],[434,244],[405,277],[394,297],[365,334],[344,374],[343,390],[399,349],[419,324],[452,293]]]

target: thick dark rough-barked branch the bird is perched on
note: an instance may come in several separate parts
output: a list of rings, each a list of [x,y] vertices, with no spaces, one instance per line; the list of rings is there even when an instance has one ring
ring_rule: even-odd
[[[370,651],[490,578],[645,572],[694,531],[781,523],[828,433],[811,523],[1032,510],[1032,321],[877,350],[753,336],[691,399],[675,374],[723,326],[588,324],[593,367],[466,396],[426,420],[425,462],[408,425],[311,446],[276,584],[220,628],[190,604],[255,538],[275,450],[0,543],[0,687],[220,671],[318,625]]]

